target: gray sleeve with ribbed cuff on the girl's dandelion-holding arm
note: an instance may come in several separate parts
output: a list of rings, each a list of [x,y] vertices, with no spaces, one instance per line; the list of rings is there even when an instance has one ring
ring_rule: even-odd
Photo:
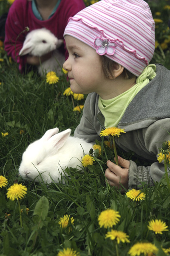
[[[158,157],[159,148],[162,147],[164,141],[170,140],[170,119],[161,119],[154,122],[143,131],[143,139],[146,150]],[[129,188],[139,189],[141,182],[146,182],[149,186],[153,186],[154,182],[160,181],[164,176],[164,161],[159,163],[155,161],[150,166],[137,166],[135,162],[130,160],[129,169]]]

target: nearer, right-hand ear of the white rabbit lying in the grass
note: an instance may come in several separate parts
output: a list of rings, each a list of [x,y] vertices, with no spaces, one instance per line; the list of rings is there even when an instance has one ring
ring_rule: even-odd
[[[59,134],[52,136],[49,140],[49,143],[50,145],[52,145],[53,148],[55,148],[55,150],[58,151],[59,148],[61,148],[65,144],[70,134],[71,134],[71,129],[62,131]]]

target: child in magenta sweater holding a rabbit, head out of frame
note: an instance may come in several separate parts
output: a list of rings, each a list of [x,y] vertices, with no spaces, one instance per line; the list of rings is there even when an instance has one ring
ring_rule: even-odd
[[[4,46],[8,55],[19,64],[23,70],[26,63],[39,65],[37,56],[19,56],[20,49],[28,31],[45,27],[49,29],[58,39],[64,39],[63,33],[68,18],[85,8],[83,0],[15,0],[9,9],[6,20]],[[65,43],[65,42],[64,42]],[[59,48],[65,58],[68,52],[64,47]],[[51,53],[43,55],[41,62],[51,57]]]

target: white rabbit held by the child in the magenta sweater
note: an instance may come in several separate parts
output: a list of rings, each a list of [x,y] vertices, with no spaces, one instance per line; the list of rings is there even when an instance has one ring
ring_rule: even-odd
[[[63,40],[56,38],[50,30],[45,28],[34,29],[26,36],[19,55],[22,56],[29,54],[41,57],[42,55],[53,51],[51,58],[42,62],[42,64],[38,66],[38,73],[40,76],[43,76],[49,71],[55,71],[57,72],[57,75],[61,75],[62,64],[65,61],[65,56],[59,52],[57,48],[60,47],[62,43]]]

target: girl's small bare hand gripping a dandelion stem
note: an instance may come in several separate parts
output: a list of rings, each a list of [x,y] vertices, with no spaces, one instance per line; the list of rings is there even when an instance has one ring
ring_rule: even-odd
[[[112,163],[110,160],[107,161],[108,169],[105,171],[105,177],[111,186],[119,188],[121,187],[121,183],[126,189],[128,189],[128,173],[130,161],[125,160],[119,156],[118,161],[122,168],[115,163]],[[124,189],[122,189],[122,192],[124,192]]]

